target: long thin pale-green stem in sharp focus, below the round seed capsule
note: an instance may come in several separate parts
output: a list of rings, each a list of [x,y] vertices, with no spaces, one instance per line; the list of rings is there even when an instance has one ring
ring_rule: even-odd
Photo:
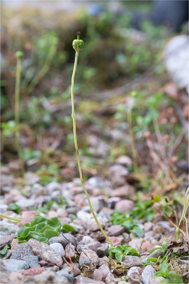
[[[77,66],[77,59],[78,59],[78,54],[79,54],[79,51],[76,50],[76,53],[75,53],[75,62],[74,62],[74,68],[73,68],[73,74],[72,74],[72,78],[71,78],[71,105],[72,105],[72,118],[73,118],[73,136],[74,136],[74,143],[75,143],[75,149],[76,149],[76,154],[77,154],[77,163],[78,163],[78,168],[79,168],[79,175],[80,175],[80,180],[81,180],[81,184],[82,184],[82,187],[84,189],[84,192],[86,194],[86,197],[87,197],[87,200],[88,200],[88,203],[89,203],[89,207],[91,209],[91,212],[95,218],[95,221],[97,222],[99,228],[101,229],[103,235],[105,236],[105,238],[107,239],[107,241],[109,242],[109,244],[113,247],[109,237],[107,236],[107,234],[105,233],[105,231],[103,230],[103,228],[101,227],[101,225],[99,224],[95,214],[94,214],[94,211],[93,211],[93,208],[92,208],[92,205],[91,205],[91,202],[90,202],[90,198],[89,198],[89,195],[88,195],[88,192],[84,186],[84,182],[83,182],[83,178],[82,178],[82,172],[81,172],[81,165],[80,165],[80,159],[79,159],[79,153],[78,153],[78,146],[77,146],[77,137],[76,137],[76,121],[75,121],[75,112],[74,112],[74,97],[73,97],[73,86],[74,86],[74,77],[75,77],[75,71],[76,71],[76,66]]]

